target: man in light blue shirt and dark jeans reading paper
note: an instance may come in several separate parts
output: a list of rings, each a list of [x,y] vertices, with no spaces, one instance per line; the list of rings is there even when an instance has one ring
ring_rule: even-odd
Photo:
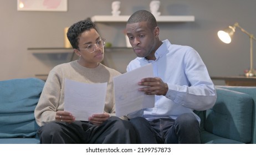
[[[139,91],[155,95],[155,107],[128,115],[140,143],[201,143],[200,119],[193,110],[211,108],[217,96],[197,51],[161,41],[156,19],[148,11],[132,14],[126,30],[137,55],[127,71],[151,63],[155,76],[139,82],[145,86]]]

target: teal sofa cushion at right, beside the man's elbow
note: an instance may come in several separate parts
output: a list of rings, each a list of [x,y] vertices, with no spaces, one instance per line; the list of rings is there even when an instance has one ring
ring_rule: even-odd
[[[249,143],[253,99],[242,92],[216,88],[216,104],[206,111],[204,129],[214,135]]]

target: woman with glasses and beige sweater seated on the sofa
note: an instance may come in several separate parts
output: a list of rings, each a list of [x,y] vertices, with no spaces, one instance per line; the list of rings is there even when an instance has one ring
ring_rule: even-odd
[[[79,59],[57,65],[49,73],[35,108],[40,143],[136,143],[131,123],[115,116],[112,78],[120,73],[100,63],[105,39],[88,19],[71,25],[67,37]],[[78,121],[73,113],[64,111],[65,79],[88,84],[107,82],[104,112]]]

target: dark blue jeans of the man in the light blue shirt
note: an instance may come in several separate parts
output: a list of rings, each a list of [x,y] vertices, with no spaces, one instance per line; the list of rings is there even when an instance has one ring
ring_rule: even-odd
[[[147,121],[143,117],[130,120],[134,125],[139,143],[194,144],[201,143],[199,122],[192,113],[184,113],[172,120],[160,118]]]

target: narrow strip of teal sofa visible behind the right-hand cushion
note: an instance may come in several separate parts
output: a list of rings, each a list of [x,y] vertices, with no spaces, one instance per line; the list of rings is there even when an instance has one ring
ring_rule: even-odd
[[[252,107],[252,141],[250,143],[256,143],[256,116],[255,116],[255,111],[256,111],[256,87],[249,87],[249,86],[217,86],[219,88],[223,89],[228,89],[228,90],[233,90],[233,91],[238,91],[242,92],[245,94],[248,94],[250,97],[253,99],[253,107]]]

